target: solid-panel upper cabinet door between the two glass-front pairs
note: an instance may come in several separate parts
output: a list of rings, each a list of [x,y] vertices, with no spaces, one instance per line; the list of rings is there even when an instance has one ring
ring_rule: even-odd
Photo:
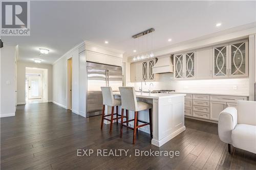
[[[196,75],[198,79],[211,78],[212,48],[203,48],[196,51]]]

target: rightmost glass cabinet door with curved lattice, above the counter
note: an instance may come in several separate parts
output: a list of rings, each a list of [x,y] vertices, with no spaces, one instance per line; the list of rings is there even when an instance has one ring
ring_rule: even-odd
[[[246,42],[234,43],[230,45],[229,76],[247,76],[247,46]]]

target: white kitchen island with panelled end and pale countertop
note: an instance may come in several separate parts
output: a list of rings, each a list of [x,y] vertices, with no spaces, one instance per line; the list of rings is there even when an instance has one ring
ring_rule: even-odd
[[[115,98],[120,98],[119,93],[114,93]],[[151,103],[153,139],[151,143],[161,147],[164,143],[179,135],[185,130],[184,125],[184,96],[186,94],[173,93],[141,93],[136,92],[137,100]],[[125,114],[125,112],[124,112]],[[149,122],[148,110],[140,111],[138,119]],[[129,119],[134,118],[134,112],[129,112]],[[133,122],[129,126],[133,127]],[[139,130],[150,133],[149,126]]]

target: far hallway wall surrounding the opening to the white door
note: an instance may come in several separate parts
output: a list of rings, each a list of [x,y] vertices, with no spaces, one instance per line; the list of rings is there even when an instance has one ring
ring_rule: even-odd
[[[17,104],[26,104],[26,67],[48,69],[48,102],[52,101],[52,65],[18,61],[17,63]]]

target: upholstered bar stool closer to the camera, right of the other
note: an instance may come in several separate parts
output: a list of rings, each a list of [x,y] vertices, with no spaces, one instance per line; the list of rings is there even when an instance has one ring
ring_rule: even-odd
[[[119,87],[120,94],[121,94],[121,103],[122,103],[122,112],[121,112],[121,128],[120,128],[120,138],[122,138],[122,133],[123,133],[123,126],[130,128],[133,130],[133,144],[135,144],[136,140],[136,131],[138,128],[150,125],[150,136],[151,139],[153,138],[152,134],[152,104],[140,102],[136,100],[136,93],[134,87]],[[134,111],[134,119],[128,120],[126,119],[125,122],[123,122],[123,110],[126,109],[126,114],[127,110]],[[144,122],[142,120],[138,119],[138,112],[142,110],[147,110],[149,112],[150,116],[150,122]],[[127,125],[127,123],[134,121],[134,127],[130,127]],[[138,125],[138,122],[143,123],[142,125]],[[124,125],[126,123],[126,125]]]

